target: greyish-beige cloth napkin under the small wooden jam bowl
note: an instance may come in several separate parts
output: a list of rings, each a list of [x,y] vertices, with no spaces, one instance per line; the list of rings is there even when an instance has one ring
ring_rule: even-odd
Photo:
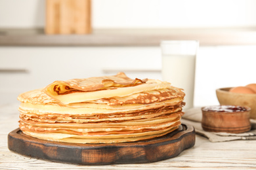
[[[234,141],[234,140],[256,140],[256,120],[251,121],[251,131],[246,133],[224,133],[204,131],[201,126],[202,111],[201,107],[196,107],[184,111],[181,122],[194,126],[196,134],[207,137],[213,143]]]

